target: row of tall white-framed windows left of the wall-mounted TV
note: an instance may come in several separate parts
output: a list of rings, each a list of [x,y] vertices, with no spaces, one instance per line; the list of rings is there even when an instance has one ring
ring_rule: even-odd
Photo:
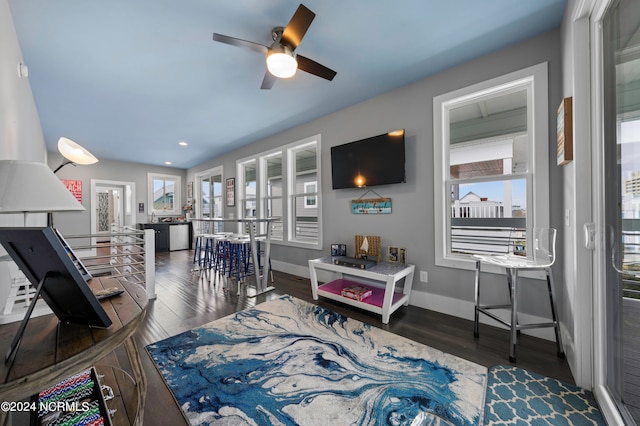
[[[237,162],[241,217],[275,219],[272,239],[322,247],[320,135]]]

